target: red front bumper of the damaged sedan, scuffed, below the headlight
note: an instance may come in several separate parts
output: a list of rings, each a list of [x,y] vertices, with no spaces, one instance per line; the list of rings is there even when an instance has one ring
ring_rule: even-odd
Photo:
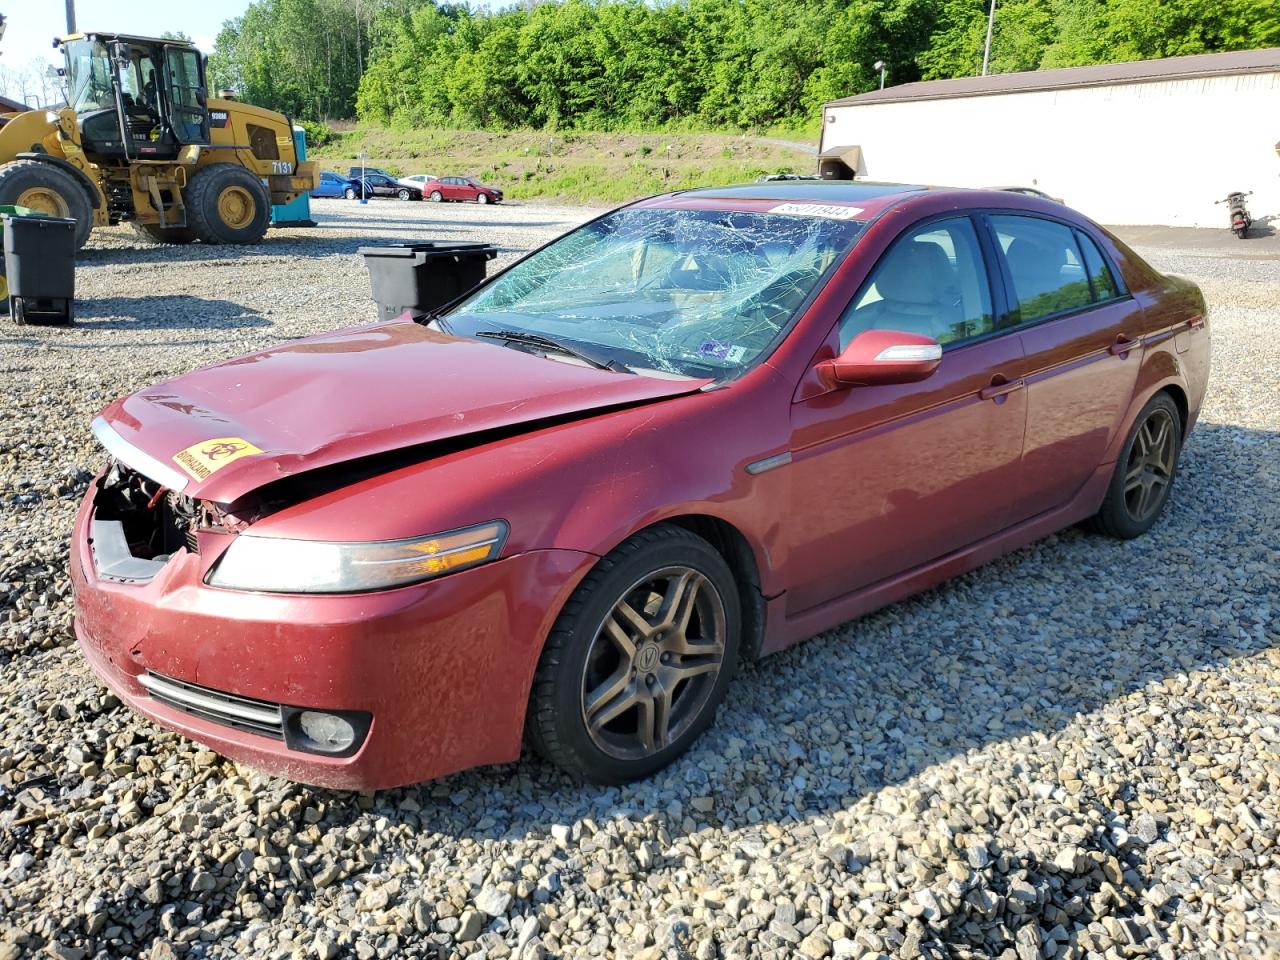
[[[92,488],[91,488],[92,490]],[[236,760],[339,790],[375,790],[520,755],[529,685],[568,593],[594,562],[538,550],[399,590],[348,596],[207,588],[177,554],[146,584],[96,576],[86,500],[72,548],[76,635],[129,707]],[[155,673],[271,704],[371,714],[349,756],[174,708]]]

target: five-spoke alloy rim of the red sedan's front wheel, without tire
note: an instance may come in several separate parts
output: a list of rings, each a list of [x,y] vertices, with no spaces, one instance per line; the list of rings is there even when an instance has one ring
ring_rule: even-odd
[[[591,741],[618,759],[643,759],[698,719],[724,662],[719,591],[691,567],[664,567],[634,584],[600,623],[581,682]]]

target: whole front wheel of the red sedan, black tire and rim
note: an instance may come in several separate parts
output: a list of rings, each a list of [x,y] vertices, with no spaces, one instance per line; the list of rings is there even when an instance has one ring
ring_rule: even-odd
[[[625,604],[632,616],[620,613]],[[663,604],[687,607],[684,627]],[[529,700],[531,746],[596,783],[662,769],[716,718],[740,635],[733,575],[709,543],[669,525],[635,534],[586,575],[547,637]]]

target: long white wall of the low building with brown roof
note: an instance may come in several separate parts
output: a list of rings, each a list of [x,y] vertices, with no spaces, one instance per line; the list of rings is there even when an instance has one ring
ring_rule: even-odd
[[[1107,224],[1224,227],[1230,191],[1280,218],[1280,72],[827,108],[860,177],[1028,186]]]

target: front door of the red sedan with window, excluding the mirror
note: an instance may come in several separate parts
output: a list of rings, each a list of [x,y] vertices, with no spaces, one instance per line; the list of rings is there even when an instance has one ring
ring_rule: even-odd
[[[1000,334],[969,218],[909,230],[840,320],[933,337],[916,384],[856,387],[792,404],[787,605],[800,613],[983,539],[1009,524],[1027,392],[1016,333]]]

